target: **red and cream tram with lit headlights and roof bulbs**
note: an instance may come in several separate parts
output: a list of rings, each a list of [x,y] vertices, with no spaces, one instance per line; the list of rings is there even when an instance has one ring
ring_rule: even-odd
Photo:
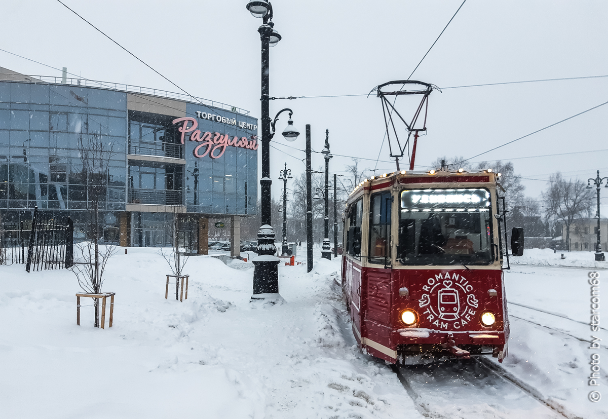
[[[351,193],[342,291],[368,353],[404,364],[506,357],[508,249],[499,176],[490,169],[398,171],[365,179]],[[522,255],[520,227],[511,246]]]

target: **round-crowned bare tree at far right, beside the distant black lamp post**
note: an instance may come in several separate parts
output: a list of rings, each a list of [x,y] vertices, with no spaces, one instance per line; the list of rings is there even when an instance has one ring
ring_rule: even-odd
[[[545,201],[545,212],[553,221],[561,221],[566,228],[565,246],[570,243],[570,226],[576,218],[585,213],[589,215],[592,207],[593,193],[587,185],[575,179],[565,181],[562,174],[554,173],[549,178],[549,187],[542,194]]]

